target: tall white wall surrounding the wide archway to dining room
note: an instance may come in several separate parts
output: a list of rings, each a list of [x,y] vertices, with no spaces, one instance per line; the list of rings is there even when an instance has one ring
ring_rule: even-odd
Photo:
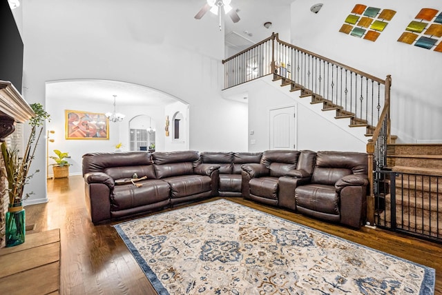
[[[64,79],[146,85],[189,102],[190,149],[227,147],[229,136],[241,132],[238,122],[247,125],[247,119],[244,112],[235,120],[224,113],[236,105],[220,95],[224,37],[207,26],[210,18],[193,19],[200,5],[172,0],[23,1],[24,98],[44,103],[46,81]],[[161,116],[164,120],[164,112]],[[231,141],[229,150],[247,146]],[[42,144],[32,165],[45,167],[45,162]],[[45,184],[44,174],[32,179],[26,189],[35,195],[27,204],[47,200]]]

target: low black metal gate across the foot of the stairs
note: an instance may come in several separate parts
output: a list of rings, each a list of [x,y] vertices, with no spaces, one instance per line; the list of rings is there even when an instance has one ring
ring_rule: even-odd
[[[442,176],[376,171],[376,225],[442,242]]]

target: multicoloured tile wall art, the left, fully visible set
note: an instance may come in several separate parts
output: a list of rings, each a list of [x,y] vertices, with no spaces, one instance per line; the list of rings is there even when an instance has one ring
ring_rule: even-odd
[[[396,11],[356,4],[345,19],[339,32],[369,41],[376,41],[379,35],[396,14]]]

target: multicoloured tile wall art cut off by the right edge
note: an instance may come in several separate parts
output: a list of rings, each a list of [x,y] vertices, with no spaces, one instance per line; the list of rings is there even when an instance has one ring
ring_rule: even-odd
[[[439,14],[438,14],[439,13]],[[398,41],[420,48],[442,52],[442,12],[434,8],[422,8],[410,21]],[[437,44],[437,45],[436,45]]]

